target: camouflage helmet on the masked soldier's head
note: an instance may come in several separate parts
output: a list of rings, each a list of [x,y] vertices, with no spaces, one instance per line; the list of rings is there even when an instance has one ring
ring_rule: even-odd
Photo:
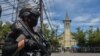
[[[33,8],[31,5],[26,5],[19,11],[20,18],[23,18],[24,16],[29,16],[30,14],[36,18],[38,18],[40,15],[39,10]]]

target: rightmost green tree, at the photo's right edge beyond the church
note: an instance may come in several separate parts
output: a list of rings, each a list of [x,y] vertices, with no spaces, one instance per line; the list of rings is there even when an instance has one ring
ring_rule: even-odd
[[[88,40],[88,44],[90,46],[100,46],[100,29],[97,28],[95,31],[93,31],[93,29],[89,30],[89,40]]]

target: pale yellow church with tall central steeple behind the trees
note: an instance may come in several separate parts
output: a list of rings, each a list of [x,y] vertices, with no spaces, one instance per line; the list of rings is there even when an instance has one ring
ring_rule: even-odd
[[[59,36],[59,42],[62,47],[71,48],[72,46],[76,45],[77,42],[73,39],[73,35],[71,34],[71,20],[69,19],[68,15],[66,15],[64,22],[64,32]]]

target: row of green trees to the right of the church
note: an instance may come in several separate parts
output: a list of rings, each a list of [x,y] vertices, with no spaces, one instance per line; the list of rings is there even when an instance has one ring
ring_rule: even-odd
[[[100,29],[89,28],[87,31],[83,31],[81,28],[77,28],[77,32],[73,33],[74,39],[77,40],[79,46],[100,46]]]

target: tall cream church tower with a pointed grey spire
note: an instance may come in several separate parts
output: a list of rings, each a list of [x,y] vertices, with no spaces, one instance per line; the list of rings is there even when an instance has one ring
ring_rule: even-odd
[[[70,30],[71,20],[66,13],[66,17],[64,19],[64,47],[70,48],[71,45],[71,30]]]

